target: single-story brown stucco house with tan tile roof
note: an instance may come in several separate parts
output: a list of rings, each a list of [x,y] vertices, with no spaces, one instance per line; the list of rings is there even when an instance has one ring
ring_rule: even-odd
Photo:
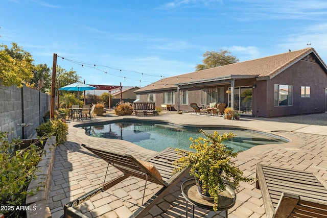
[[[135,94],[177,111],[224,102],[261,117],[320,113],[327,110],[327,65],[308,47],[160,79]]]

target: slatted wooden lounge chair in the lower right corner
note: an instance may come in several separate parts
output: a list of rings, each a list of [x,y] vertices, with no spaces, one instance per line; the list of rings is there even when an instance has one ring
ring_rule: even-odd
[[[256,177],[268,218],[327,217],[327,183],[318,174],[257,164]]]

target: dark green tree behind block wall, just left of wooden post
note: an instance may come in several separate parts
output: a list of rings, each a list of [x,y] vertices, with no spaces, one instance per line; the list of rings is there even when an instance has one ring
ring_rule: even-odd
[[[30,81],[30,87],[42,92],[50,92],[51,72],[46,64],[38,64],[34,67],[33,78]]]

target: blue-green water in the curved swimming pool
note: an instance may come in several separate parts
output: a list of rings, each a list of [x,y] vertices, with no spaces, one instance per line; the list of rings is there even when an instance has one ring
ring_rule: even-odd
[[[138,146],[152,150],[162,151],[168,147],[190,150],[190,137],[204,137],[197,128],[184,128],[168,124],[118,122],[105,125],[82,127],[89,136],[101,138],[114,138],[130,141]],[[287,140],[270,135],[246,130],[233,129],[205,129],[205,132],[220,134],[232,132],[236,137],[224,141],[226,146],[235,151],[245,151],[258,144],[286,143]]]

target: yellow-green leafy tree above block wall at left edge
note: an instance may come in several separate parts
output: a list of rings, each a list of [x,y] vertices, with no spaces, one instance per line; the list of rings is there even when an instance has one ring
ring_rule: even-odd
[[[22,47],[14,42],[11,44],[11,49],[7,45],[0,45],[0,78],[5,86],[21,87],[22,82],[29,82],[33,77],[34,60]]]

